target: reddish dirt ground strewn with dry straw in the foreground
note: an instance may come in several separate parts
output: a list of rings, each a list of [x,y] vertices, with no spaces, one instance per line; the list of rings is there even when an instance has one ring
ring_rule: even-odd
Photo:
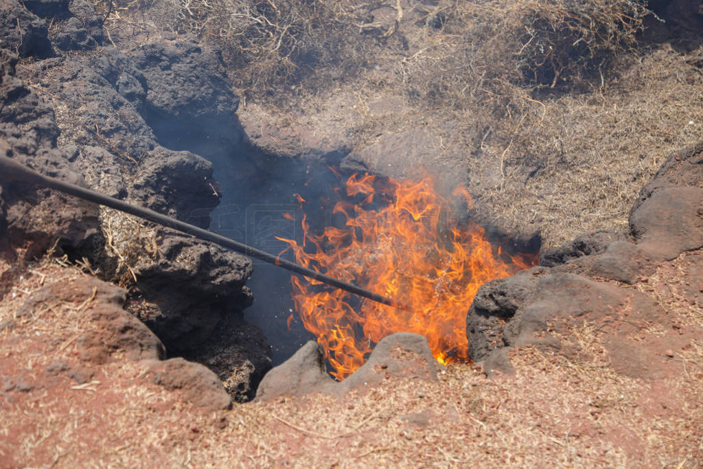
[[[489,379],[475,366],[453,365],[436,382],[391,378],[343,397],[284,397],[228,411],[155,385],[147,361],[119,350],[105,363],[86,361],[77,339],[95,328],[94,292],[18,316],[43,285],[86,274],[61,259],[15,266],[0,303],[0,466],[698,468],[703,317],[690,298],[703,292],[691,268],[701,255],[687,252],[632,287],[668,318],[621,322],[640,326],[626,340],[660,357],[650,377],[610,366],[606,345],[617,321],[583,323],[564,338],[579,347],[576,359],[513,350],[515,376]],[[659,349],[664,342],[676,347]]]

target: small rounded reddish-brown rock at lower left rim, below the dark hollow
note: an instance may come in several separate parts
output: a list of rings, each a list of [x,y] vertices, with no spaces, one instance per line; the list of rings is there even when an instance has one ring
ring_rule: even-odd
[[[145,373],[152,383],[180,390],[183,398],[207,411],[230,409],[232,401],[215,373],[198,363],[176,358],[153,361]]]

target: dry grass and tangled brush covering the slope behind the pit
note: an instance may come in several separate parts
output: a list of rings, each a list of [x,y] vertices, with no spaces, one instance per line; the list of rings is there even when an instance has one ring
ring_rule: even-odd
[[[640,186],[703,133],[699,71],[669,46],[638,44],[639,2],[96,5],[122,49],[165,30],[217,45],[267,150],[363,148],[451,124],[482,219],[539,229],[545,247],[625,230]],[[386,112],[369,107],[384,99]]]

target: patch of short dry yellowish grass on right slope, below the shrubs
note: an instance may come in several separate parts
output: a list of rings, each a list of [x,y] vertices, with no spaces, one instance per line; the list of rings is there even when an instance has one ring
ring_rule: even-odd
[[[505,160],[505,178],[482,202],[503,224],[539,226],[546,247],[583,231],[627,232],[640,188],[703,134],[703,82],[688,84],[690,76],[686,57],[665,45],[602,93],[543,101],[544,120],[524,127],[507,153],[489,144],[477,158],[479,167]]]

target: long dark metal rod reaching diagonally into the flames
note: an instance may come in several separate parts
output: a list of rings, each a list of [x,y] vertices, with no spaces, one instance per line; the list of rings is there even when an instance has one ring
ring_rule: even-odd
[[[77,198],[88,200],[89,202],[105,205],[105,207],[110,207],[115,210],[120,210],[120,212],[129,213],[136,217],[153,221],[155,224],[167,226],[169,228],[195,236],[196,238],[211,241],[212,243],[221,245],[224,248],[241,252],[242,254],[247,255],[249,257],[261,259],[264,262],[269,262],[269,264],[274,264],[276,266],[283,267],[283,269],[288,269],[289,271],[292,271],[295,274],[299,274],[307,278],[313,278],[314,280],[327,283],[328,285],[332,285],[333,287],[346,290],[349,293],[354,293],[354,295],[359,295],[361,297],[368,298],[369,300],[373,300],[382,304],[387,304],[392,307],[406,309],[406,305],[400,302],[396,302],[395,300],[392,300],[383,295],[378,295],[377,293],[370,292],[364,288],[359,287],[358,285],[354,285],[353,283],[340,281],[336,278],[332,278],[330,276],[326,276],[325,274],[321,274],[318,271],[308,269],[307,267],[304,267],[302,265],[289,262],[285,259],[279,259],[277,256],[271,255],[268,252],[258,250],[257,248],[252,248],[250,245],[239,243],[238,241],[226,238],[217,233],[213,233],[212,231],[207,231],[202,228],[198,228],[198,226],[194,226],[183,221],[172,219],[171,217],[166,217],[165,215],[162,215],[158,212],[154,212],[153,210],[150,210],[148,208],[139,207],[138,205],[132,205],[122,200],[112,198],[109,195],[105,195],[96,191],[91,191],[91,189],[86,189],[80,186],[76,186],[75,184],[59,181],[58,179],[50,176],[44,176],[44,174],[39,174],[38,172],[34,171],[34,169],[30,169],[25,165],[22,165],[20,162],[17,162],[16,160],[13,160],[12,158],[8,158],[6,156],[0,156],[0,179],[5,179],[6,181],[25,181],[31,184],[38,184],[40,186],[46,186],[52,189],[56,189],[57,191],[74,195]]]

